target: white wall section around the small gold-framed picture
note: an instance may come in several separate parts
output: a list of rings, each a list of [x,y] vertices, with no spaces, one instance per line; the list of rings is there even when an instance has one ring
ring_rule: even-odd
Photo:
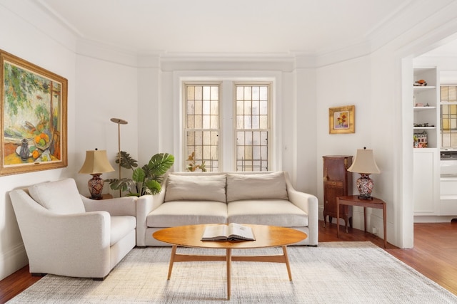
[[[315,162],[317,166],[316,180],[318,180],[318,199],[320,216],[323,210],[323,162],[324,155],[353,155],[357,149],[373,149],[376,162],[379,164],[381,155],[373,147],[372,142],[372,121],[376,115],[371,115],[371,61],[369,56],[363,56],[341,63],[335,63],[323,68],[318,68],[316,75],[317,87],[317,155]],[[328,108],[355,105],[356,132],[351,134],[329,134],[328,133]],[[378,121],[381,123],[382,119]],[[382,166],[381,171],[383,170]],[[358,191],[355,187],[355,179],[359,176],[353,174],[353,194]],[[372,174],[374,182],[373,196],[380,197],[383,189],[377,184],[377,174]],[[363,228],[363,216],[357,216],[357,208],[354,208],[353,225]],[[362,211],[363,212],[363,211]]]

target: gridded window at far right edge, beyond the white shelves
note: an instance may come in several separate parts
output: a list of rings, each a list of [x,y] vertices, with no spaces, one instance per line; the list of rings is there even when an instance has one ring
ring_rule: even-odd
[[[457,147],[457,86],[441,86],[441,147]],[[448,103],[448,105],[443,105]]]

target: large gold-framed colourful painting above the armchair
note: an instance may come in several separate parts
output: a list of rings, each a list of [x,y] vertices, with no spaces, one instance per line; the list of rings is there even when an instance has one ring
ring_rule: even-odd
[[[0,175],[67,166],[68,81],[0,50]]]

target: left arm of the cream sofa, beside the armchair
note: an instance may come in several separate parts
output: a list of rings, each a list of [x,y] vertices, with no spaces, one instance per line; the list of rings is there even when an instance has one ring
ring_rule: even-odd
[[[136,200],[136,246],[146,246],[147,216],[163,202],[165,190],[156,195],[143,195]]]

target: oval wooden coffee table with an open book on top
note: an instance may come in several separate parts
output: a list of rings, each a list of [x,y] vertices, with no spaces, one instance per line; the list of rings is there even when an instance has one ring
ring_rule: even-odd
[[[243,224],[244,225],[244,224]],[[154,239],[170,243],[171,248],[170,266],[168,280],[171,277],[174,262],[189,262],[189,261],[226,261],[227,266],[227,299],[230,300],[231,293],[231,262],[232,261],[251,261],[251,262],[274,262],[286,263],[288,278],[292,281],[291,267],[288,263],[286,246],[297,243],[306,239],[308,236],[296,229],[265,226],[265,225],[245,225],[250,226],[256,241],[201,241],[201,236],[205,226],[208,225],[188,225],[176,226],[171,228],[161,229],[154,232]],[[197,248],[223,248],[226,249],[226,256],[205,256],[205,255],[189,255],[176,253],[178,246],[197,247]],[[246,248],[267,248],[267,247],[282,247],[283,254],[271,256],[232,256],[232,249]]]

